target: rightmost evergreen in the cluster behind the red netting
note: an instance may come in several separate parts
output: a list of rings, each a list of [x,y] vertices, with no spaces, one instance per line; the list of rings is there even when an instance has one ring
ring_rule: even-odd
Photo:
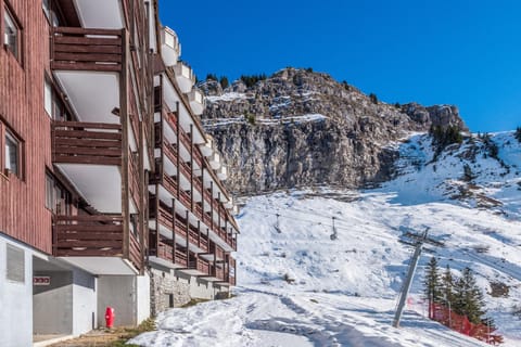
[[[479,324],[483,320],[485,313],[483,293],[469,268],[465,268],[461,278],[455,282],[453,310],[467,316],[471,323]]]

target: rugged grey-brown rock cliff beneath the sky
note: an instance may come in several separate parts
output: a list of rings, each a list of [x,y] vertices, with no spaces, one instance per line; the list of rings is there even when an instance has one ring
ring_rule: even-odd
[[[287,68],[247,88],[207,95],[203,124],[229,168],[236,194],[304,185],[360,188],[390,179],[392,143],[432,125],[467,127],[455,106],[390,105],[329,75]]]

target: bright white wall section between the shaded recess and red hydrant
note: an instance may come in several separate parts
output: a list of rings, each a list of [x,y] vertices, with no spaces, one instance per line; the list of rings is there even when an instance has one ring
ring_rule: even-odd
[[[79,335],[98,327],[97,280],[90,273],[73,272],[73,334]]]

